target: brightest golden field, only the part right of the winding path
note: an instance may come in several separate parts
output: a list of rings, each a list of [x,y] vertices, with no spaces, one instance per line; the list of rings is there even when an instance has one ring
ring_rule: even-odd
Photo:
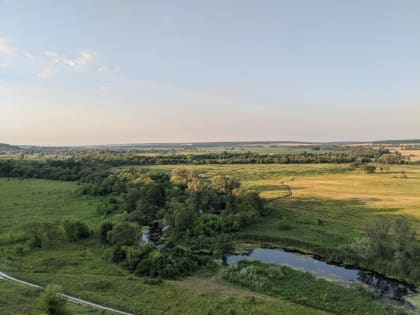
[[[401,174],[401,171],[405,174]],[[405,176],[407,178],[405,178]],[[296,198],[355,200],[367,207],[391,208],[394,214],[420,218],[420,168],[393,167],[391,172],[303,176],[286,181]]]

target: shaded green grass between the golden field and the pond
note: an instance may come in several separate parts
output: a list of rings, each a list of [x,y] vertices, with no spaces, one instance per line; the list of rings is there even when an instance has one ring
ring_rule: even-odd
[[[335,251],[364,234],[366,225],[379,218],[396,218],[399,208],[368,206],[373,199],[279,198],[269,201],[267,216],[239,238],[313,251]],[[420,227],[417,219],[409,218]]]

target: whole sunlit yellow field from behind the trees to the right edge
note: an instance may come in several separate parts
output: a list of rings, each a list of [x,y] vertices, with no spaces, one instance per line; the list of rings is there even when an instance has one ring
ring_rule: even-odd
[[[391,165],[383,173],[365,174],[346,164],[290,165],[183,165],[155,166],[171,170],[186,168],[202,177],[235,175],[245,188],[261,192],[264,198],[287,196],[294,199],[357,201],[367,209],[420,219],[420,166]],[[391,211],[392,210],[392,211]]]

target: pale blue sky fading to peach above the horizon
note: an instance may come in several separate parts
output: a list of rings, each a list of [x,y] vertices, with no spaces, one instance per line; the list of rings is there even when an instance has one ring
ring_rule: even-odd
[[[420,138],[420,1],[0,0],[0,143]]]

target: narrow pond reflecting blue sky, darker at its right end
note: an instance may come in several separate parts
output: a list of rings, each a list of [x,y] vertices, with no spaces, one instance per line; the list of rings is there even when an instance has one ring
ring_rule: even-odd
[[[413,287],[374,272],[334,265],[310,255],[270,248],[256,248],[249,254],[229,256],[227,263],[232,264],[242,260],[257,260],[266,264],[287,265],[294,269],[309,272],[316,277],[336,280],[346,285],[363,283],[373,289],[374,293],[384,302],[398,300],[413,308],[411,304],[404,300],[404,297],[416,293]]]

